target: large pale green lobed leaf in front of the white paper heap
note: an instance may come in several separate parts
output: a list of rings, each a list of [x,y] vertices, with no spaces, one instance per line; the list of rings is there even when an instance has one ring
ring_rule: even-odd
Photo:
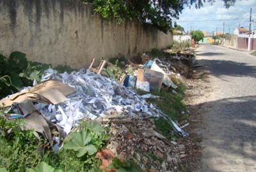
[[[64,148],[77,151],[77,157],[81,157],[86,153],[92,155],[97,152],[97,148],[94,145],[86,145],[92,138],[84,130],[71,133],[70,136],[72,138],[64,145]]]

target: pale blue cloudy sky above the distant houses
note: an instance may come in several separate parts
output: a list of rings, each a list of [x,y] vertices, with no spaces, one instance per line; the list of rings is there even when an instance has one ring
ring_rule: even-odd
[[[225,8],[221,0],[216,0],[212,5],[204,3],[200,9],[196,9],[194,5],[190,8],[186,6],[180,14],[179,20],[175,21],[184,27],[185,31],[192,29],[208,32],[216,31],[216,27],[218,27],[218,31],[223,31],[223,22],[225,22],[225,32],[232,34],[239,25],[249,29],[251,7],[252,19],[255,20],[253,27],[256,29],[256,0],[237,0],[234,6],[228,9]],[[204,20],[204,22],[200,22],[200,20]]]

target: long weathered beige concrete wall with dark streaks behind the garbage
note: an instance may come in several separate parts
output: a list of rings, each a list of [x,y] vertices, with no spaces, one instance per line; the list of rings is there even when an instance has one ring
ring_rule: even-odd
[[[118,25],[79,0],[0,0],[0,53],[31,61],[86,67],[93,57],[132,57],[172,44],[172,34],[137,20]]]

